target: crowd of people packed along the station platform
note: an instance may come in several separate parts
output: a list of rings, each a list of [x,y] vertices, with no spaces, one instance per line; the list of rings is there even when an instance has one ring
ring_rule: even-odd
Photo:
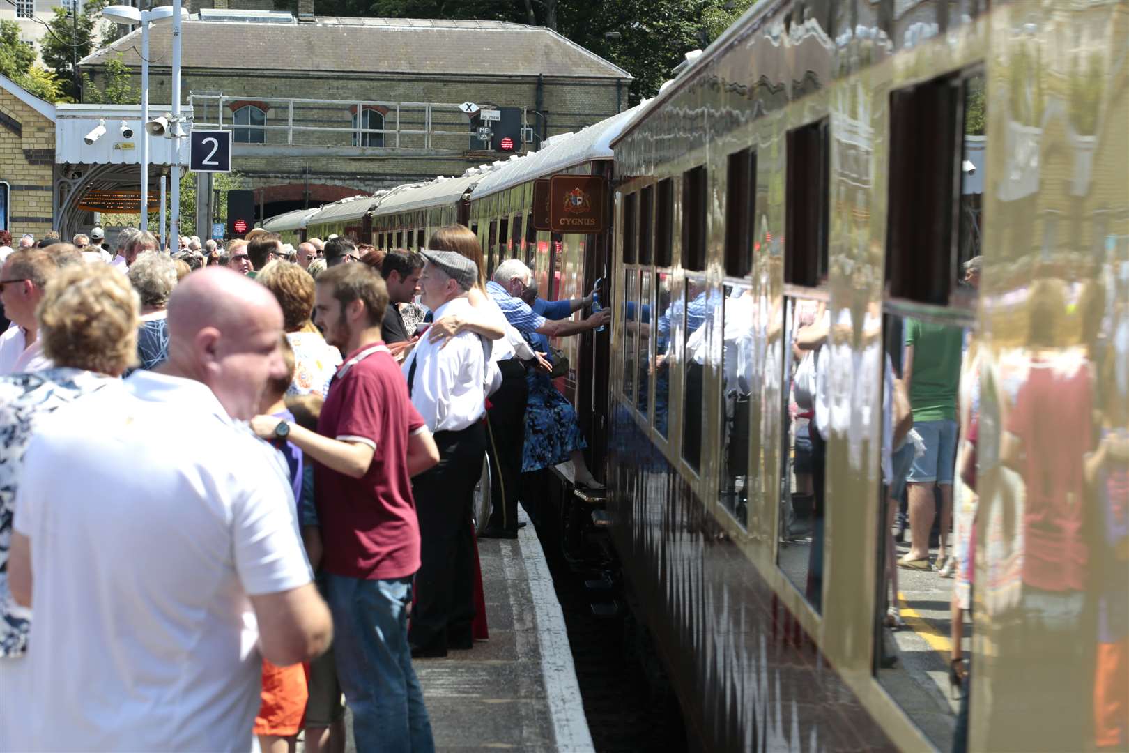
[[[342,694],[358,750],[434,750],[412,660],[488,636],[483,459],[483,536],[524,472],[601,488],[546,339],[610,310],[463,226],[103,240],[0,237],[0,750],[341,751]]]

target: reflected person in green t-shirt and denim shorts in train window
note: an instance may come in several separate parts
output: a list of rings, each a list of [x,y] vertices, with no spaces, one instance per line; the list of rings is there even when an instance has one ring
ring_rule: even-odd
[[[963,330],[957,326],[905,319],[903,378],[913,409],[913,428],[925,441],[925,455],[913,459],[909,484],[910,551],[898,564],[929,570],[929,531],[934,518],[934,487],[940,488],[940,541],[937,568],[952,577],[945,557],[953,511],[953,471],[956,465],[956,391],[961,379]]]

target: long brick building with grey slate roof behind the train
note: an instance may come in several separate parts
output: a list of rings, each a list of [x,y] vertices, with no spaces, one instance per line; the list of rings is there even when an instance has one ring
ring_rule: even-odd
[[[198,6],[184,23],[184,102],[196,128],[234,130],[234,168],[266,217],[507,156],[471,138],[481,123],[458,103],[518,108],[516,151],[628,106],[627,71],[543,27],[321,17],[305,0],[298,17]],[[139,34],[81,68],[102,84],[120,58],[139,76]],[[168,99],[170,40],[169,25],[150,30],[152,100]]]

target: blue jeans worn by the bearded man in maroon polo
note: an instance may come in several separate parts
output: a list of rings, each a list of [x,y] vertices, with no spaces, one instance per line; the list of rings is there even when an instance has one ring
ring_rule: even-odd
[[[412,579],[327,575],[338,678],[357,750],[431,753],[431,721],[408,646]]]

